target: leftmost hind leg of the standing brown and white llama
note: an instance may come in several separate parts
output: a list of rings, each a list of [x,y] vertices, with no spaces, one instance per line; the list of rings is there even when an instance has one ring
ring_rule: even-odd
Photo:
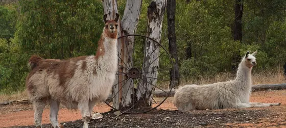
[[[34,119],[35,119],[35,125],[36,127],[42,127],[42,114],[45,107],[45,102],[42,100],[34,101]]]

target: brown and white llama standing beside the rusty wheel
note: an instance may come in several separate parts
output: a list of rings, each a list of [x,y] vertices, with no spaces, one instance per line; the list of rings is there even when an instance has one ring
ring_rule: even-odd
[[[107,20],[98,41],[95,56],[80,56],[67,60],[42,59],[31,56],[31,72],[26,86],[34,105],[36,127],[41,127],[41,118],[46,103],[51,106],[50,121],[53,127],[63,127],[58,123],[59,105],[68,109],[79,109],[83,127],[88,127],[91,112],[96,102],[105,101],[111,91],[117,71],[117,21]]]

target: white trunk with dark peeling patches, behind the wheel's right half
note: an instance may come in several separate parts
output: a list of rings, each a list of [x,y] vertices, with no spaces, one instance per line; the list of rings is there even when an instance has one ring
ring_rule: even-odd
[[[162,33],[162,22],[164,17],[166,7],[166,0],[153,0],[151,4],[148,6],[147,11],[147,19],[148,19],[148,27],[147,27],[147,36],[155,39],[158,42],[161,42],[161,33]],[[160,49],[157,48],[158,44],[150,39],[146,39],[145,42],[145,51],[144,51],[144,60],[142,70],[143,72],[151,72],[158,70],[159,67],[159,54]],[[153,53],[152,53],[153,52]],[[151,54],[152,53],[152,54]],[[151,55],[150,55],[151,54]],[[157,78],[157,72],[154,73],[145,73],[145,75],[141,78],[141,82],[139,89],[141,91],[137,91],[137,99],[139,102],[145,102],[147,105],[152,105],[152,98],[154,92],[154,86],[156,85],[157,80],[152,79]],[[149,77],[149,78],[148,78]],[[151,84],[150,84],[151,83]],[[151,94],[151,95],[150,95]],[[144,100],[145,101],[142,101]]]

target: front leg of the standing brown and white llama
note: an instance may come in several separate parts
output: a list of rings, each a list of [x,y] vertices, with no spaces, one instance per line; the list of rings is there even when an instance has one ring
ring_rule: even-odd
[[[81,111],[81,116],[83,120],[83,128],[88,127],[88,123],[90,121],[90,113],[89,113],[89,106],[88,101],[79,102],[79,110]]]

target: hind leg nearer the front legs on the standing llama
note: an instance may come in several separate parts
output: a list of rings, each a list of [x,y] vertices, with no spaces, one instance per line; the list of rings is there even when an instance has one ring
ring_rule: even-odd
[[[50,121],[53,127],[60,127],[59,122],[58,122],[58,112],[59,112],[60,103],[53,99],[50,102],[51,102]]]

